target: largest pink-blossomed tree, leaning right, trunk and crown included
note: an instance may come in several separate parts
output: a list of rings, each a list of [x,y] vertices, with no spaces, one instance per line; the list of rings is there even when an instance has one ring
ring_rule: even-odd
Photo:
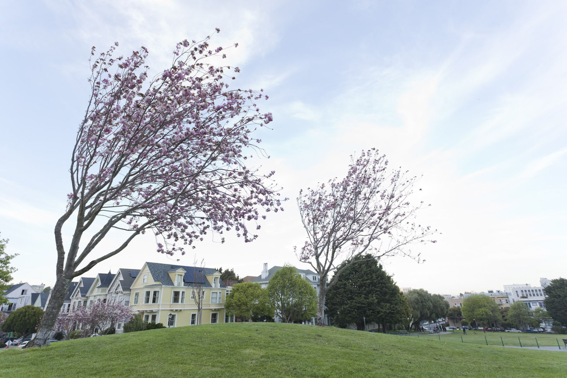
[[[158,252],[183,254],[208,232],[234,229],[252,241],[257,235],[250,227],[265,219],[261,211],[281,209],[274,172],[245,164],[254,154],[266,156],[252,132],[272,121],[257,105],[268,96],[228,90],[231,71],[239,69],[209,63],[226,57],[209,40],[177,44],[172,65],[153,79],[146,48],[126,58],[113,57],[115,46],[98,57],[92,48],[91,94],[71,154],[71,191],[55,226],[57,281],[33,345],[48,343],[71,280],[137,235],[150,231]],[[73,228],[68,244],[64,225]],[[113,230],[123,242],[89,259]]]

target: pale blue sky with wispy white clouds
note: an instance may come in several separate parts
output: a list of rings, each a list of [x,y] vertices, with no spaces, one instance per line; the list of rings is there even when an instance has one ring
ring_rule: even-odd
[[[153,73],[178,41],[239,43],[223,63],[235,86],[263,88],[272,129],[256,135],[285,211],[253,243],[209,237],[185,256],[139,236],[86,277],[143,262],[234,268],[308,266],[295,198],[344,177],[350,155],[376,147],[422,176],[418,220],[437,243],[425,260],[382,261],[400,287],[432,293],[502,290],[565,277],[567,267],[567,5],[530,1],[0,2],[0,234],[14,282],[55,282],[53,228],[70,192],[69,164],[90,87],[88,57],[119,41],[146,46]],[[69,240],[70,228],[64,228]],[[121,244],[114,233],[100,256]],[[115,247],[116,248],[116,247]],[[179,262],[177,262],[179,260]]]

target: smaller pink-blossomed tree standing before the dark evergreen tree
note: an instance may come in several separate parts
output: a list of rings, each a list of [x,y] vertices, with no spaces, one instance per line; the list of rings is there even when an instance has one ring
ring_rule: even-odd
[[[417,177],[406,177],[401,169],[388,169],[388,160],[375,148],[351,156],[346,177],[301,190],[297,198],[307,240],[295,249],[300,261],[308,262],[320,275],[317,322],[324,325],[324,299],[341,272],[371,253],[376,260],[395,254],[420,261],[410,244],[426,243],[436,231],[415,222],[423,202],[409,202]],[[420,189],[421,190],[421,189]],[[342,265],[344,261],[350,261]],[[336,270],[337,269],[337,270]],[[327,282],[329,272],[336,270]]]

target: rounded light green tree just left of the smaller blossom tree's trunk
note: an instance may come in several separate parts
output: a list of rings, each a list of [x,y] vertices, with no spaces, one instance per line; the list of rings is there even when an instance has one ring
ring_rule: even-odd
[[[268,298],[284,323],[306,321],[317,315],[317,292],[293,266],[282,267],[270,278]]]

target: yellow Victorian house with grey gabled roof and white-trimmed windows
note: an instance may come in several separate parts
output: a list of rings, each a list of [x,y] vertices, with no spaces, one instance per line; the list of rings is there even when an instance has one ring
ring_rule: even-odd
[[[230,288],[216,269],[146,262],[130,290],[130,305],[146,322],[167,327],[234,322],[225,313]]]

